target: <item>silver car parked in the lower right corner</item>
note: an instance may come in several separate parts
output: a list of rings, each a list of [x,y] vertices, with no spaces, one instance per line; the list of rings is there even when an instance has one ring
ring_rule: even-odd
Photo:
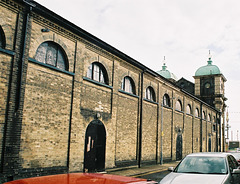
[[[160,184],[238,184],[240,168],[229,153],[192,153],[187,155]]]

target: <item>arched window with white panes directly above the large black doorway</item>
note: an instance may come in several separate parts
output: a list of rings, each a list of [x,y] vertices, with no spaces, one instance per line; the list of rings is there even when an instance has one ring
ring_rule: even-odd
[[[107,70],[99,62],[94,62],[88,67],[87,77],[103,84],[109,84]]]

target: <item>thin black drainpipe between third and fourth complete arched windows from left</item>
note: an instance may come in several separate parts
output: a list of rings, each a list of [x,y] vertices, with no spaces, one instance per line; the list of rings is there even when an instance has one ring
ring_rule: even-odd
[[[142,121],[143,121],[143,77],[145,69],[141,73],[141,99],[140,99],[140,123],[139,123],[139,150],[138,150],[138,167],[141,167],[142,158]]]

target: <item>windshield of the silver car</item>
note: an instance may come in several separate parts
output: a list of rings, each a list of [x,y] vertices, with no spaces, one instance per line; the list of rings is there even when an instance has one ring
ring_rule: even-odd
[[[174,170],[178,173],[227,174],[225,158],[188,156]]]

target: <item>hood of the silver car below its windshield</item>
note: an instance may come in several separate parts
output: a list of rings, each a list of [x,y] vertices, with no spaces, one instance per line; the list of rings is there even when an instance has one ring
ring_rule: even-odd
[[[186,173],[170,173],[165,176],[160,184],[221,184],[225,181],[227,175],[213,174],[186,174]]]

